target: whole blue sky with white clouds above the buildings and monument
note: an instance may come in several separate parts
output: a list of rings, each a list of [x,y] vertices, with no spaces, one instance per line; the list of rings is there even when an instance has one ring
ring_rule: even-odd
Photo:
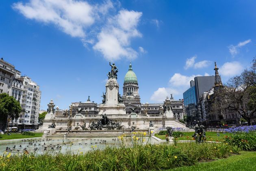
[[[223,82],[256,55],[253,0],[6,0],[0,4],[0,56],[31,77],[62,109],[101,102],[109,62],[119,91],[130,60],[141,102],[175,99],[198,75]]]

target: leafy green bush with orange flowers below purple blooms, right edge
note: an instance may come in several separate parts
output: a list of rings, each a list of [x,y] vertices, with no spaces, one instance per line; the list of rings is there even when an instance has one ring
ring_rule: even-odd
[[[256,131],[237,132],[231,136],[225,136],[223,142],[245,151],[256,151]]]

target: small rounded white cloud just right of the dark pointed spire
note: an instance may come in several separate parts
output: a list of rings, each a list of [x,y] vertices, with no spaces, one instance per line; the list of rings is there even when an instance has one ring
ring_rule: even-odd
[[[228,77],[241,74],[242,71],[243,66],[237,61],[224,63],[219,69],[219,73],[221,74],[221,76]]]

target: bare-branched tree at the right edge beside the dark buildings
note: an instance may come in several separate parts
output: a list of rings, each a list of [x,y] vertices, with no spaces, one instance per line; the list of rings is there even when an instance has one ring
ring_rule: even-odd
[[[219,99],[217,106],[220,106],[222,111],[236,111],[251,125],[251,119],[256,113],[256,57],[249,69],[228,80],[227,84],[215,93]]]

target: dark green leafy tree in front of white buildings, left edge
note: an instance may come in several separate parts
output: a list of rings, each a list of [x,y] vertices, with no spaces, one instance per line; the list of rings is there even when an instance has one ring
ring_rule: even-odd
[[[20,102],[7,93],[0,94],[0,121],[4,123],[4,126],[8,118],[11,120],[18,119],[21,111]]]

